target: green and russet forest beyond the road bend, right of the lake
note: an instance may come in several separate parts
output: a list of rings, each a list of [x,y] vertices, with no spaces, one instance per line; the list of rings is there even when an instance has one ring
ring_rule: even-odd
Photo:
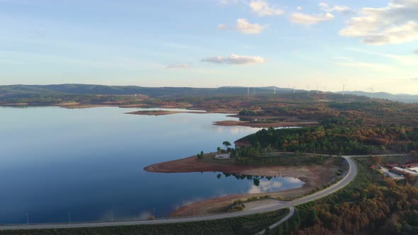
[[[363,127],[361,122],[332,118],[315,127],[262,129],[239,142],[251,144],[240,148],[239,156],[259,156],[263,149],[335,155],[409,153],[418,149],[418,127]]]

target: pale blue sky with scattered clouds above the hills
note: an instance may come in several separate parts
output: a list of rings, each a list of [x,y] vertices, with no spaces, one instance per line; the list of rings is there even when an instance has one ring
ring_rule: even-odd
[[[418,93],[418,0],[0,0],[0,85]]]

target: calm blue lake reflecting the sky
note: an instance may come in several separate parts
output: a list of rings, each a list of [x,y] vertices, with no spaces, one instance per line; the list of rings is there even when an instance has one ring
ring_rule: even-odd
[[[176,207],[234,193],[300,187],[295,178],[147,173],[149,164],[214,151],[256,132],[218,127],[220,114],[127,115],[132,108],[0,108],[0,224],[166,217]]]

